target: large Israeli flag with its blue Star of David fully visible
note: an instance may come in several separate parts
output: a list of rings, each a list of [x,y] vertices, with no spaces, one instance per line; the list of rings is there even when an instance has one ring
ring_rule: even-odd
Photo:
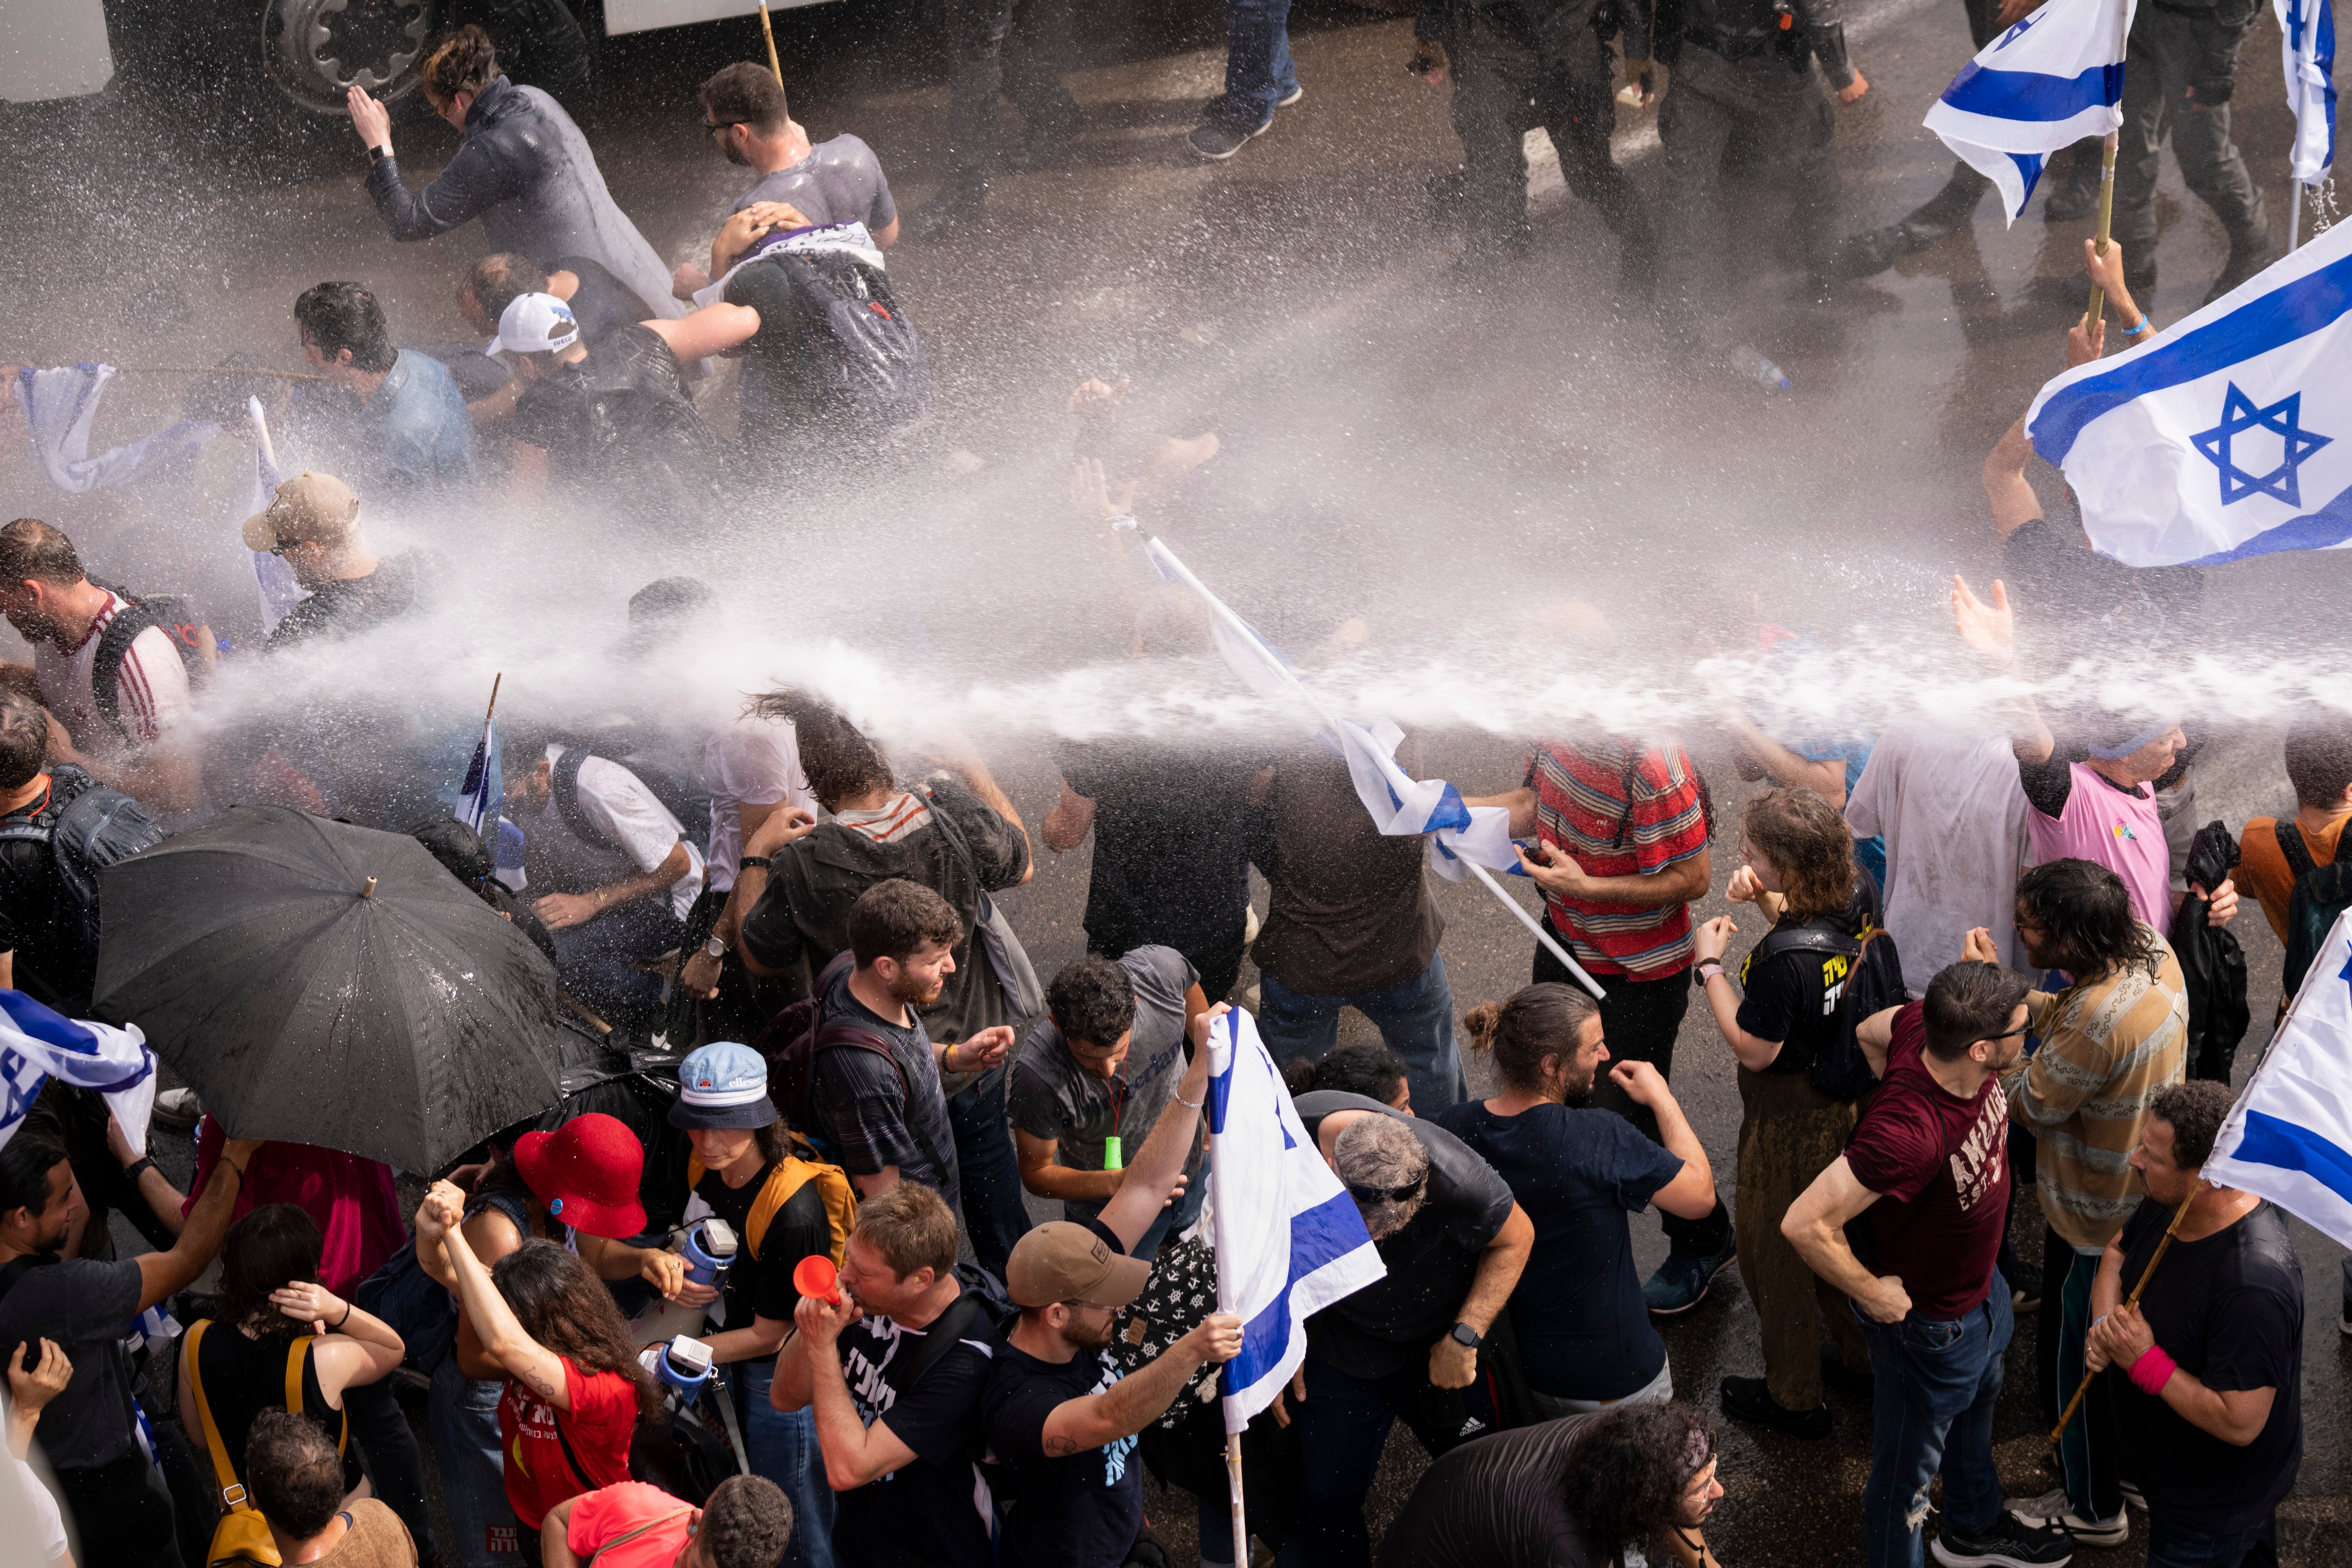
[[[2110,329],[2110,341],[2114,331]],[[2058,376],[2025,433],[2126,567],[2352,541],[2352,223],[2178,327]]]

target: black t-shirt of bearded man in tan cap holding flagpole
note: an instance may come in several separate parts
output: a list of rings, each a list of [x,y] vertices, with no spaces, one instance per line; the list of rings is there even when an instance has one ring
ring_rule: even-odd
[[[1004,1523],[1004,1561],[1023,1568],[1120,1568],[1127,1561],[1143,1523],[1136,1439],[1068,1458],[1044,1450],[1044,1422],[1056,1408],[1117,1380],[1108,1349],[1054,1363],[997,1340],[981,1427],[997,1462],[1011,1472],[1018,1500]]]

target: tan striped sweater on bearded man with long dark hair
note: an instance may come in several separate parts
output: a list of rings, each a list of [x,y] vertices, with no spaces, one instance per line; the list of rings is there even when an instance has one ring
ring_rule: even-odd
[[[2157,1091],[2178,1084],[2187,1058],[2190,997],[2180,959],[2150,926],[2157,966],[2124,969],[2025,1006],[2042,1048],[2002,1079],[2009,1114],[2037,1147],[2042,1213],[2070,1246],[2103,1248],[2140,1206],[2126,1164]]]

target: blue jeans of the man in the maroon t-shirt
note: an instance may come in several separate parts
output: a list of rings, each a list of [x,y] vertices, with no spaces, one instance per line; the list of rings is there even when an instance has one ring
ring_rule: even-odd
[[[2002,1516],[1992,1472],[1992,1406],[2002,1396],[2002,1354],[2016,1316],[2009,1281],[1992,1274],[1985,1305],[1938,1324],[1917,1312],[1900,1324],[1853,1314],[1870,1340],[1870,1483],[1863,1488],[1863,1563],[1919,1568],[1926,1549],[1926,1486],[1943,1474],[1943,1519],[1955,1535],[1978,1535]]]

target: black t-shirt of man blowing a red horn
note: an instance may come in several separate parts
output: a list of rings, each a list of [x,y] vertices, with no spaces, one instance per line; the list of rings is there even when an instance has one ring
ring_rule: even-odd
[[[955,1276],[969,1291],[976,1269],[957,1269]],[[901,1328],[887,1316],[866,1316],[842,1331],[842,1373],[858,1420],[868,1427],[880,1420],[915,1450],[901,1469],[835,1495],[833,1556],[842,1568],[993,1568],[988,1535],[995,1502],[978,1458],[981,1394],[995,1361],[1000,1314],[1002,1300],[974,1319],[913,1387],[903,1375],[908,1361],[922,1354],[924,1331]]]

